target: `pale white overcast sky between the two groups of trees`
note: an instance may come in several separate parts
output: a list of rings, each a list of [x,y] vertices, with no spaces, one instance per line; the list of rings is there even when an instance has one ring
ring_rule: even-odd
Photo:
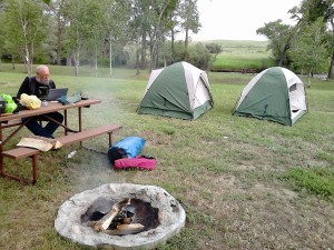
[[[287,11],[302,0],[198,0],[202,29],[191,40],[255,40],[264,41],[256,30],[265,23],[282,19],[294,24]],[[179,38],[184,39],[184,38]]]

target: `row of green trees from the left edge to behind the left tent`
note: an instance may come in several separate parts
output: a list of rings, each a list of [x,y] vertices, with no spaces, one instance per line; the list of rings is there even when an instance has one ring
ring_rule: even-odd
[[[197,0],[0,0],[0,56],[75,66],[132,63],[155,69],[174,61],[205,61],[189,51],[189,32],[200,28]],[[183,32],[184,40],[176,41]],[[181,48],[181,49],[180,49]],[[195,51],[195,49],[194,49]]]

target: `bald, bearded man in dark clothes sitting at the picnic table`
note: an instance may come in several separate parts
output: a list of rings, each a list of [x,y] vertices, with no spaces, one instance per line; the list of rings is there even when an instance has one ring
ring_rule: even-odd
[[[50,79],[49,68],[47,66],[38,66],[36,69],[36,77],[27,77],[17,94],[17,98],[20,99],[22,93],[28,96],[36,96],[38,98],[42,98],[47,96],[49,89],[56,89],[55,82]],[[48,117],[62,123],[63,116],[59,112],[47,113]],[[22,118],[24,122],[30,118]],[[53,132],[59,127],[58,123],[53,121],[49,121],[45,127],[42,127],[39,122],[39,117],[33,117],[29,122],[27,122],[26,127],[36,136],[53,138]],[[45,118],[43,118],[45,120]]]

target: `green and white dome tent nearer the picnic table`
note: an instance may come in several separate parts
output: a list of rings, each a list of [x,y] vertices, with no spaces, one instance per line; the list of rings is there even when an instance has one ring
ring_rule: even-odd
[[[183,61],[151,71],[137,112],[195,120],[213,106],[206,72]]]

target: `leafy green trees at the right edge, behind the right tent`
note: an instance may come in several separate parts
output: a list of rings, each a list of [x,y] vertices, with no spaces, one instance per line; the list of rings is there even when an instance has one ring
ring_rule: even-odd
[[[295,26],[278,19],[256,31],[269,40],[277,66],[301,70],[311,79],[330,64],[327,78],[334,79],[334,0],[302,0],[288,12]]]

